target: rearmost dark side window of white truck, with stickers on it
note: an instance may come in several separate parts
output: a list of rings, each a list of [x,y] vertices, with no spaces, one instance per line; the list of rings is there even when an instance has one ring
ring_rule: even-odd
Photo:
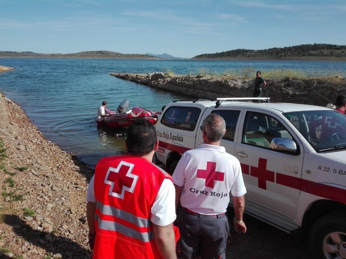
[[[170,128],[194,131],[201,109],[197,107],[172,106],[163,114],[161,123]]]

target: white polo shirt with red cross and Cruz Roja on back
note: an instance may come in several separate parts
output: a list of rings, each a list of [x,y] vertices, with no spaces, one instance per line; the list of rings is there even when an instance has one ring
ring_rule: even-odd
[[[202,144],[186,151],[174,170],[173,182],[184,186],[182,207],[204,215],[226,212],[230,193],[237,197],[246,193],[240,163],[223,146]]]

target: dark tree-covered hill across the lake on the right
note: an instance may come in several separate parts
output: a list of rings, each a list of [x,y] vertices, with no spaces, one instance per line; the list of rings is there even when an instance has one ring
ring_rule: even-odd
[[[301,59],[346,60],[346,45],[304,44],[271,49],[235,49],[201,54],[192,59]]]

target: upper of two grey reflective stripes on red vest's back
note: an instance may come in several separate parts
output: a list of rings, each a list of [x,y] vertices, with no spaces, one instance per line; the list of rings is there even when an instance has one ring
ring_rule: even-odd
[[[115,208],[109,205],[104,205],[102,204],[102,202],[99,202],[99,201],[96,201],[96,208],[100,210],[101,214],[111,215],[119,219],[126,220],[130,223],[135,224],[137,227],[147,228],[151,226],[151,222],[149,219],[137,217],[132,213],[120,210],[118,208]]]

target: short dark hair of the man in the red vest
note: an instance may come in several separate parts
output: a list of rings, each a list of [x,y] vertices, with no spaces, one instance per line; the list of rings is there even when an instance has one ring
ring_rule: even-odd
[[[130,155],[143,156],[153,151],[156,143],[156,130],[145,119],[133,122],[126,132],[127,151]]]

